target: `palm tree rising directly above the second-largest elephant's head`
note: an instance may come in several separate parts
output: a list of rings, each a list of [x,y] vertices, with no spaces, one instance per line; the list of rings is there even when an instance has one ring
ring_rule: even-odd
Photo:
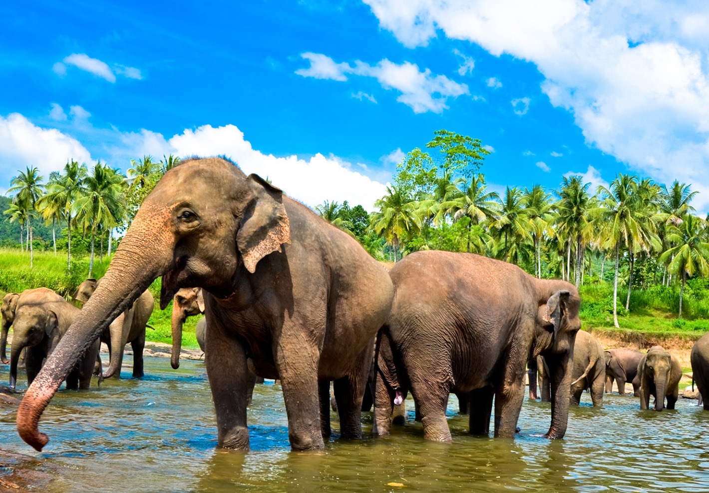
[[[584,184],[579,176],[564,177],[557,201],[558,231],[566,239],[566,279],[571,279],[571,245],[576,245],[576,267],[574,269],[576,289],[581,285],[581,265],[586,242],[591,236],[591,196],[590,183]]]

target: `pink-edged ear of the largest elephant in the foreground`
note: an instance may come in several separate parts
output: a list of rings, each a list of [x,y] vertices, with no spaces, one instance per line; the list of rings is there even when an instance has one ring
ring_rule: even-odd
[[[291,243],[291,226],[283,205],[283,192],[258,175],[249,175],[254,198],[242,217],[236,244],[245,267],[252,274],[269,253]]]

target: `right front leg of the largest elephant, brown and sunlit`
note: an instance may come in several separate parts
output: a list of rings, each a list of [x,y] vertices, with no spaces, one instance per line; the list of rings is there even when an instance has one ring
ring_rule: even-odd
[[[274,356],[288,414],[288,438],[294,450],[325,448],[320,421],[318,347],[301,329],[284,328]]]

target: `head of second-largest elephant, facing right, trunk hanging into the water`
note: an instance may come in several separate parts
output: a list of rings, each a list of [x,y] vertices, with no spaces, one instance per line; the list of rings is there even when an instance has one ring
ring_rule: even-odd
[[[571,360],[576,333],[581,328],[581,299],[573,284],[537,281],[537,317],[532,358],[544,356],[549,368],[552,425],[548,438],[563,438],[569,418]]]

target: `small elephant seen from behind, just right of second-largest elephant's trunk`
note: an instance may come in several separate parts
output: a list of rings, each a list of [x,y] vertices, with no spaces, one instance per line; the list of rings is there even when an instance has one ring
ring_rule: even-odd
[[[574,363],[571,370],[571,404],[578,406],[581,394],[591,389],[593,407],[603,406],[603,388],[605,387],[605,355],[598,339],[586,331],[576,333],[574,343]]]

